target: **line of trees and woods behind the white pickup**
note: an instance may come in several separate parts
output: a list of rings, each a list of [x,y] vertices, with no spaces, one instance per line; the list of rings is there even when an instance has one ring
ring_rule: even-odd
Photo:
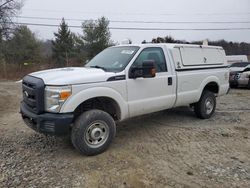
[[[27,26],[12,22],[22,8],[22,0],[0,2],[0,79],[20,79],[30,72],[49,68],[84,66],[103,49],[117,44],[111,39],[109,20],[105,17],[84,21],[80,34],[71,32],[62,18],[54,39],[42,41]],[[202,44],[202,41],[174,39],[167,33],[149,42]],[[250,43],[218,40],[208,44],[222,46],[227,55],[250,58]]]

